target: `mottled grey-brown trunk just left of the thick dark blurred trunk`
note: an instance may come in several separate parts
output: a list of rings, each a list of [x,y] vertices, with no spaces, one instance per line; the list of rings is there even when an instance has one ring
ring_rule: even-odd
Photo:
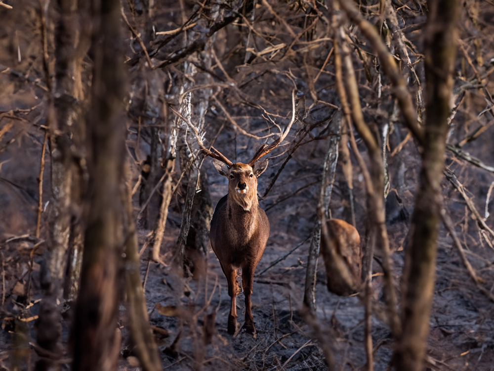
[[[81,239],[80,235],[76,236],[77,228],[71,229],[71,199],[73,185],[79,189],[82,185],[81,179],[78,178],[74,148],[80,150],[84,137],[79,100],[82,95],[79,89],[82,55],[76,53],[77,46],[81,45],[77,1],[59,0],[57,4],[60,15],[54,38],[56,58],[54,107],[49,107],[50,112],[53,113],[50,114],[49,120],[52,203],[49,216],[49,243],[41,274],[44,297],[37,323],[37,342],[54,358],[62,356],[60,301],[67,250],[70,241]],[[77,193],[80,194],[80,191]],[[76,219],[81,220],[81,218]],[[71,232],[76,232],[76,235],[71,236]],[[77,278],[74,281],[76,280]],[[52,361],[44,357],[37,362],[37,370],[59,368]]]

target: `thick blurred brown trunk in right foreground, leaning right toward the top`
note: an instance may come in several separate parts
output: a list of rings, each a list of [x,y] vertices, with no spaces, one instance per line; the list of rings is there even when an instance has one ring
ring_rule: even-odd
[[[449,131],[459,1],[428,1],[425,33],[426,123],[422,171],[404,273],[403,332],[396,370],[422,370],[434,294],[441,179]]]

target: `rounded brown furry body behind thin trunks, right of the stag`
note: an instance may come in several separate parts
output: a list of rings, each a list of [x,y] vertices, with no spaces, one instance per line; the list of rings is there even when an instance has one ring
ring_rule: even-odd
[[[321,252],[328,291],[340,296],[358,292],[362,285],[362,252],[355,227],[340,219],[329,219],[321,231]]]

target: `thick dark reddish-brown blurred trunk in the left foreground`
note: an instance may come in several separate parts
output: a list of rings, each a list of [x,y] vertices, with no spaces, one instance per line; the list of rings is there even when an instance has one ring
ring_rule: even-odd
[[[73,370],[116,370],[121,294],[125,93],[120,2],[91,3],[92,104],[87,118],[89,212],[81,286],[72,328]]]

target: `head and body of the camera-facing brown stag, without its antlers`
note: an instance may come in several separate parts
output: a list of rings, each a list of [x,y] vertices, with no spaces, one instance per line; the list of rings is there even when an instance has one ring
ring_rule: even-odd
[[[228,168],[214,161],[214,166],[229,180],[228,194],[216,205],[209,233],[209,242],[226,276],[228,295],[232,298],[228,333],[234,334],[237,329],[236,296],[240,293],[237,270],[241,268],[246,302],[244,328],[255,337],[250,295],[255,267],[261,260],[269,237],[269,220],[257,201],[257,177],[266,169],[267,160],[258,161],[253,168],[240,162]],[[244,185],[245,193],[238,192]]]

